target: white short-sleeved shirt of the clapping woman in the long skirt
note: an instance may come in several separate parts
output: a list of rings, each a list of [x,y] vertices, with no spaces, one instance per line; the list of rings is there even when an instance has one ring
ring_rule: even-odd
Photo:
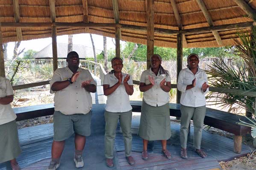
[[[155,85],[153,85],[152,88],[149,90],[145,91],[143,93],[143,100],[150,106],[162,106],[165,105],[166,103],[169,103],[170,96],[169,92],[165,92],[162,90],[160,87],[160,82],[163,79],[166,79],[166,82],[171,82],[171,77],[168,72],[168,76],[165,74],[154,74],[154,72],[151,70],[151,68],[145,70],[141,74],[141,79],[140,82],[145,83],[145,85],[149,85],[150,81],[148,80],[148,76],[152,76],[155,79]]]

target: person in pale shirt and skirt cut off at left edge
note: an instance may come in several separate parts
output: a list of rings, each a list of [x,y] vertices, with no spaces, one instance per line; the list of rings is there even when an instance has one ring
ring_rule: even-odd
[[[11,162],[12,170],[21,168],[16,157],[21,154],[16,125],[16,114],[10,103],[13,100],[13,90],[9,79],[0,77],[0,163]]]

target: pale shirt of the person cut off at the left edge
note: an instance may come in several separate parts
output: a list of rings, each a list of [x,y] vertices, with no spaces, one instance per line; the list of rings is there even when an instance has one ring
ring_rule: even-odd
[[[13,95],[12,85],[9,79],[0,77],[0,97],[6,97]],[[16,114],[12,110],[10,104],[2,105],[0,104],[0,125],[12,122],[16,119]]]

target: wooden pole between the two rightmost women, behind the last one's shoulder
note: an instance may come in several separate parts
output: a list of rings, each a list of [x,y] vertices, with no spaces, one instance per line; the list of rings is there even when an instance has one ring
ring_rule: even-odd
[[[179,72],[182,70],[182,34],[177,35],[177,79],[176,81],[178,82],[178,76]],[[181,92],[177,90],[177,96],[176,96],[176,102],[180,103],[180,96]]]

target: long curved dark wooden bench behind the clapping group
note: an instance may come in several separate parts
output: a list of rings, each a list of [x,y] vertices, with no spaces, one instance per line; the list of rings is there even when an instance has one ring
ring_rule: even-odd
[[[133,112],[141,112],[141,101],[130,101],[130,103],[132,105]],[[169,108],[170,116],[181,116],[179,104],[169,103]],[[26,106],[21,108],[14,108],[13,110],[17,115],[16,121],[21,121],[41,116],[53,115],[54,105],[53,103],[51,103],[46,105]],[[244,116],[219,111],[216,109],[206,108],[204,124],[235,134],[234,152],[241,153],[242,136],[250,133],[251,128],[243,125],[238,125],[237,122],[239,122],[239,119],[248,122],[248,120]]]

